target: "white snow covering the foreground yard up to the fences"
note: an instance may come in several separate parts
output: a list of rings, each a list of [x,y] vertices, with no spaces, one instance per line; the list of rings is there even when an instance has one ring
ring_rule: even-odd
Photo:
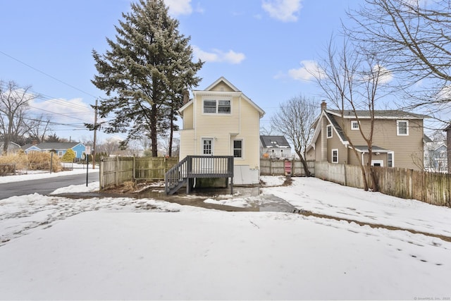
[[[127,197],[1,199],[0,299],[450,300],[450,208],[316,178],[262,180],[261,197],[206,202],[274,197],[313,215]]]

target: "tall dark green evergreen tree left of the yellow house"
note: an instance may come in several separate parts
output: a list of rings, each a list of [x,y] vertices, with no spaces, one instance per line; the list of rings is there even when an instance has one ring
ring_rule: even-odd
[[[203,62],[192,62],[190,37],[178,32],[178,20],[168,16],[163,0],[140,0],[131,8],[116,26],[116,42],[106,38],[110,49],[102,55],[92,51],[98,72],[92,83],[107,95],[99,116],[114,116],[102,126],[106,133],[128,133],[123,145],[148,135],[157,156],[157,135],[172,133],[182,105],[176,100],[199,84],[195,75]]]

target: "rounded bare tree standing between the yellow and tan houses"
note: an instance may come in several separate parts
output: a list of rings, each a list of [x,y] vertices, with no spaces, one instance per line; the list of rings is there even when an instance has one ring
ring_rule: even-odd
[[[311,173],[307,166],[306,151],[314,133],[311,125],[317,115],[314,100],[299,95],[280,104],[278,111],[271,116],[271,129],[283,133],[292,143],[307,176],[311,176]]]

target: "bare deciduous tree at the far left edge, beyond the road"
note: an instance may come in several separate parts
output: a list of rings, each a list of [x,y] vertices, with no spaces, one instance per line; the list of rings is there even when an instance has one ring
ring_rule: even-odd
[[[2,152],[8,152],[9,142],[18,140],[25,133],[25,112],[28,102],[35,96],[21,88],[16,82],[0,81],[0,135],[4,140]]]

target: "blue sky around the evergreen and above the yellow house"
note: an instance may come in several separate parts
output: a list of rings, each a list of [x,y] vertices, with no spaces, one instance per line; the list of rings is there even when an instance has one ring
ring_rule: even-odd
[[[89,107],[104,92],[92,85],[92,49],[104,53],[130,10],[130,0],[0,0],[0,80],[14,80],[42,96],[34,113],[51,116],[54,133],[72,140],[92,139],[82,123],[92,123]],[[203,90],[224,76],[266,115],[281,102],[321,90],[304,67],[323,55],[333,33],[358,0],[166,0],[179,30],[191,37]],[[116,135],[125,137],[124,135]],[[99,140],[113,135],[100,134]]]

